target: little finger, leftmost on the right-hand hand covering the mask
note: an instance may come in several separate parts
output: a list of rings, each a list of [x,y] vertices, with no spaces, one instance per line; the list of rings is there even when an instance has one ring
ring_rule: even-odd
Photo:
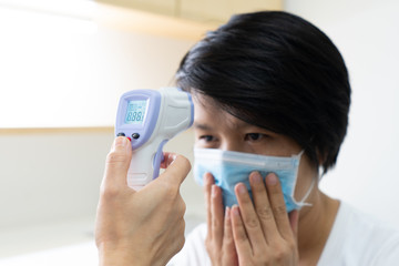
[[[252,255],[252,247],[237,205],[232,207],[231,217],[234,244],[238,258],[239,260],[246,260]]]

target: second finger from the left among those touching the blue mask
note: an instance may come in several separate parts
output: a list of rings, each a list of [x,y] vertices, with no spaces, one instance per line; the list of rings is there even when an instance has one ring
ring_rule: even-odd
[[[223,202],[222,190],[213,184],[211,188],[211,215],[212,215],[212,237],[216,245],[222,247],[223,243]]]

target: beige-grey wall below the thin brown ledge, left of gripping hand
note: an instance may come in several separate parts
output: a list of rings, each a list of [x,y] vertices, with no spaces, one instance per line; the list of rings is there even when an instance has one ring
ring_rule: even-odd
[[[0,228],[93,216],[112,131],[0,135]]]

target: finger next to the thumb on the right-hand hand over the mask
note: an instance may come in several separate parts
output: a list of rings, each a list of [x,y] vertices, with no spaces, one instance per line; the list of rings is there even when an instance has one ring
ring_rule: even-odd
[[[270,206],[273,209],[274,218],[276,221],[276,226],[278,232],[284,239],[288,239],[293,236],[290,229],[288,214],[286,211],[286,204],[283,196],[282,185],[276,176],[276,174],[270,173],[266,176],[266,188],[269,195]]]

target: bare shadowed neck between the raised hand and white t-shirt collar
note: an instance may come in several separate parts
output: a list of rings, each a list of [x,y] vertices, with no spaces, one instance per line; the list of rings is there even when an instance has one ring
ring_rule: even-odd
[[[304,207],[299,213],[298,252],[300,265],[316,265],[338,212],[339,202],[313,190],[308,202],[310,207]]]

